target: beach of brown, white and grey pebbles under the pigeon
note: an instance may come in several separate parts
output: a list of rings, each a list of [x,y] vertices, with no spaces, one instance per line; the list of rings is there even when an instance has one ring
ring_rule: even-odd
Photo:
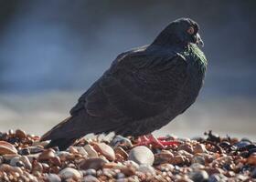
[[[178,145],[138,146],[137,138],[81,138],[65,151],[17,129],[0,132],[0,181],[256,181],[256,144],[248,138],[165,136]]]

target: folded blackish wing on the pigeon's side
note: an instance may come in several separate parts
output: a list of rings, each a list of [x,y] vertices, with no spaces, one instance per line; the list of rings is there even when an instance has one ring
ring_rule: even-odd
[[[90,116],[104,120],[157,116],[176,99],[186,79],[187,62],[183,56],[124,54],[80,96],[70,114],[86,110]]]

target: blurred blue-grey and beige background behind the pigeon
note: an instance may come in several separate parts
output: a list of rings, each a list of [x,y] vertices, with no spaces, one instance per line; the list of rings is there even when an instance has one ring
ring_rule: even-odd
[[[208,57],[195,105],[155,135],[256,139],[256,2],[0,1],[0,131],[41,135],[69,116],[112,60],[191,17]]]

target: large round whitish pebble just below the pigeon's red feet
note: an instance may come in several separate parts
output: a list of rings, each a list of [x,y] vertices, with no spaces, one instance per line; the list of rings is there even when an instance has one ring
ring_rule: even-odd
[[[133,160],[139,165],[152,166],[155,160],[154,154],[148,147],[139,146],[133,147],[129,153],[129,160]]]

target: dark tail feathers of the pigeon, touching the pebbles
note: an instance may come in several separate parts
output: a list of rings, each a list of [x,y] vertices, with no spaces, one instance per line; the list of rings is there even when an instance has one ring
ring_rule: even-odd
[[[74,123],[77,123],[78,119],[76,116],[69,116],[43,135],[40,141],[51,140],[46,148],[59,147],[59,150],[65,150],[80,137],[78,133],[72,130]]]

